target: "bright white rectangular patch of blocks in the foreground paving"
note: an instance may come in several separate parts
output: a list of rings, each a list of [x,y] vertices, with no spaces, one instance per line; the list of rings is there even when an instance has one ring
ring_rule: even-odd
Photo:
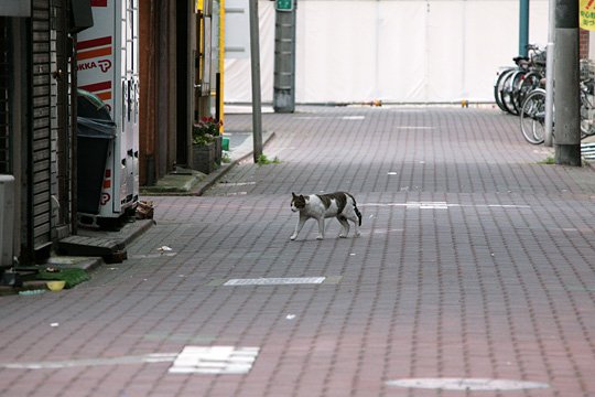
[[[186,346],[169,369],[170,374],[247,374],[258,356],[258,347]]]

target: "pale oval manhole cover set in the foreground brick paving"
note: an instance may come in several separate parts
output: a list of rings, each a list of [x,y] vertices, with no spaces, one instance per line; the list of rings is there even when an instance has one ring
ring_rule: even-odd
[[[388,386],[442,390],[522,390],[548,388],[550,385],[538,382],[484,379],[484,378],[414,378],[387,382]]]

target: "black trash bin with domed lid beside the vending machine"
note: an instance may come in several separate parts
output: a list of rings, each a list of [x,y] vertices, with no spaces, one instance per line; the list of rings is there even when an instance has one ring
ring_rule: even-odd
[[[98,214],[106,161],[116,124],[105,103],[97,96],[78,90],[77,137],[77,211]]]

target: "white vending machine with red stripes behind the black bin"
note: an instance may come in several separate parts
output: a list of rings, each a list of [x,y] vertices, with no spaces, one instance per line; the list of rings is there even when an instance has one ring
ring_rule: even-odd
[[[95,226],[136,208],[139,198],[139,12],[138,0],[90,3],[94,26],[77,36],[78,88],[106,104],[116,127],[97,211],[78,213],[82,224]]]

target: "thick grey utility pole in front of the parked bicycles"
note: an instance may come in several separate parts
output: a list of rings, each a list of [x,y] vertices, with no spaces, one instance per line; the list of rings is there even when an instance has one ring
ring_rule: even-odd
[[[578,1],[556,0],[554,120],[555,163],[581,167]]]

